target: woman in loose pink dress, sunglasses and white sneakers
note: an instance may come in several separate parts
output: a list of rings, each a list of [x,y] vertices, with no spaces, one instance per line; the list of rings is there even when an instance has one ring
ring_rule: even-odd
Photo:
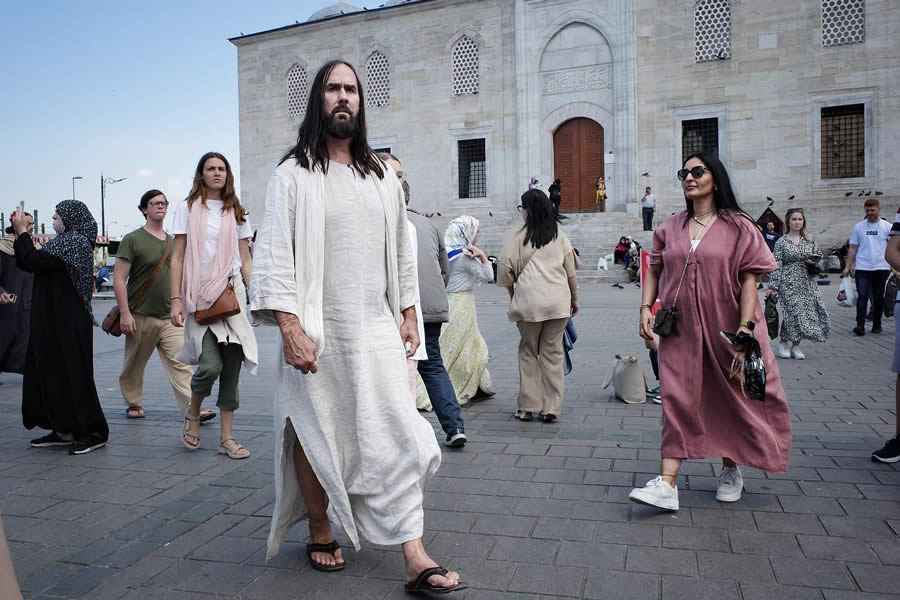
[[[639,324],[640,336],[652,340],[650,305],[658,293],[671,308],[678,294],[675,330],[659,343],[662,466],[658,477],[629,494],[667,510],[678,510],[675,480],[684,459],[721,457],[716,500],[736,502],[743,490],[739,464],[782,473],[791,454],[790,413],[756,288],[775,259],[718,158],[695,154],[678,178],[687,210],[653,234]],[[731,375],[740,349],[720,331],[745,332],[759,342],[766,367],[762,401],[749,398],[740,375]]]

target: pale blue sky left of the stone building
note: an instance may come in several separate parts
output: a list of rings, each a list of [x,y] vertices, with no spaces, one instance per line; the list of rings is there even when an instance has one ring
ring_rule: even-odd
[[[197,160],[222,152],[238,175],[237,48],[243,33],[305,21],[333,0],[33,0],[4,4],[0,36],[0,212],[25,200],[50,227],[75,196],[112,237],[139,227],[143,192],[170,201]],[[373,2],[374,4],[374,2]],[[171,215],[171,211],[170,211]],[[171,219],[171,216],[170,216]]]

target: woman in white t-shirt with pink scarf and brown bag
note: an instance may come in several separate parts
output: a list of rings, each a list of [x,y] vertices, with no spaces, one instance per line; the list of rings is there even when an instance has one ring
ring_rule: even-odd
[[[172,323],[185,328],[184,346],[176,358],[197,365],[181,441],[190,450],[200,447],[200,407],[218,379],[216,406],[222,413],[219,453],[247,458],[250,453],[232,437],[231,426],[239,405],[241,363],[253,375],[257,366],[245,287],[250,282],[253,230],[234,192],[231,166],[218,152],[207,152],[197,164],[191,193],[175,208],[173,233]],[[197,323],[195,313],[230,294],[229,286],[240,312],[204,325]]]

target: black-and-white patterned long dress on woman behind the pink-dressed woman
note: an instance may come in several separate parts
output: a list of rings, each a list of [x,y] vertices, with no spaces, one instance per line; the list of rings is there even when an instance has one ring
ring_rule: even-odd
[[[806,257],[821,254],[815,242],[794,243],[784,235],[775,242],[778,268],[769,274],[769,288],[778,294],[781,339],[824,342],[831,330],[816,278],[806,271]]]

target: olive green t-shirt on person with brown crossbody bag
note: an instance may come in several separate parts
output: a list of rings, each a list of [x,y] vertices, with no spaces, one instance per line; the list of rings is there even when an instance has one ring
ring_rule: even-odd
[[[169,235],[166,234],[167,239]],[[172,262],[172,250],[175,247],[174,240],[169,248],[169,256],[166,263],[156,274],[153,284],[140,304],[131,311],[136,315],[168,319],[172,308],[171,284],[169,283],[169,264]],[[166,249],[166,240],[157,239],[153,234],[141,227],[122,238],[119,250],[116,252],[116,261],[125,260],[131,263],[128,272],[128,298],[129,304],[134,302],[134,297],[141,290],[156,265],[159,264],[163,252]]]

